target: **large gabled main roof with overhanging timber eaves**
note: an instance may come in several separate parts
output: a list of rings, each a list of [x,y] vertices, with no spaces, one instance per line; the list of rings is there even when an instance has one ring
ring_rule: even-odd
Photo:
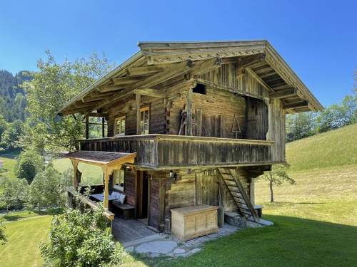
[[[263,56],[262,61],[268,66],[273,77],[276,76],[283,83],[280,87],[269,87],[271,93],[285,94],[286,90],[288,94],[291,93],[289,89],[296,90],[296,98],[286,99],[284,103],[288,112],[323,109],[321,103],[268,41],[139,42],[138,45],[141,49],[138,53],[76,95],[58,113],[66,115],[93,112],[100,108],[109,108],[109,104],[119,98],[125,102],[134,95],[135,90],[142,89],[146,81],[160,75],[159,72],[164,71],[163,68],[181,66],[184,61],[194,63],[208,61],[211,58],[223,58],[228,62],[233,58],[244,60],[260,55]],[[255,73],[253,66],[247,69]],[[258,73],[259,69],[256,70]],[[259,75],[256,75],[256,78],[262,85],[268,86],[266,78]],[[286,95],[283,97],[286,98]]]

